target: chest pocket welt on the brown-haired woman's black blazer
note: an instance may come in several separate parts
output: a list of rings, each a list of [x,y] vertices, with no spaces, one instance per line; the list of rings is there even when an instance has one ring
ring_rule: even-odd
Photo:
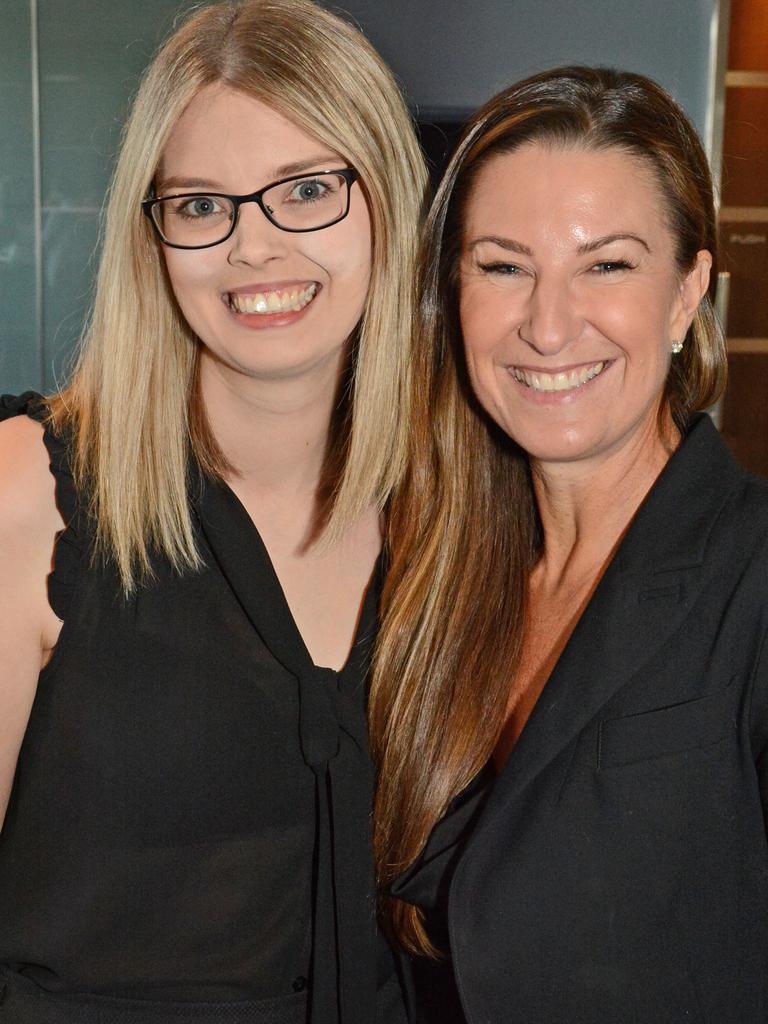
[[[693,700],[602,719],[582,736],[577,760],[599,771],[712,746],[733,722],[729,692],[730,683]]]

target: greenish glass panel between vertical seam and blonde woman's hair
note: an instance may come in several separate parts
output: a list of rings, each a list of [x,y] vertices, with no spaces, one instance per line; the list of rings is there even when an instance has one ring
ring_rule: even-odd
[[[3,0],[5,3],[6,0]],[[38,0],[48,387],[80,337],[98,219],[138,76],[172,30],[178,0]]]

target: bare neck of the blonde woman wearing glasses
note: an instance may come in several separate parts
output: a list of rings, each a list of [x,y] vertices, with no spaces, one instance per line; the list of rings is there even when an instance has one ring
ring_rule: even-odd
[[[339,385],[338,364],[312,375],[258,379],[203,353],[200,388],[208,423],[250,495],[306,495],[323,476]]]

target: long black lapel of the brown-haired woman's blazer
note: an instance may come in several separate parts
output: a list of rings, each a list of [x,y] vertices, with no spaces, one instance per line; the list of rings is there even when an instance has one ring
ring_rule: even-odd
[[[742,479],[710,418],[693,420],[577,625],[470,846],[679,629],[707,579],[712,525]]]

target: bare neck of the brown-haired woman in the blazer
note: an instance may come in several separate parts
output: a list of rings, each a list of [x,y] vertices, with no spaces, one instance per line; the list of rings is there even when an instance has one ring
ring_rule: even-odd
[[[597,574],[626,532],[680,437],[672,418],[653,420],[621,449],[565,464],[532,462],[544,531],[540,580]]]

